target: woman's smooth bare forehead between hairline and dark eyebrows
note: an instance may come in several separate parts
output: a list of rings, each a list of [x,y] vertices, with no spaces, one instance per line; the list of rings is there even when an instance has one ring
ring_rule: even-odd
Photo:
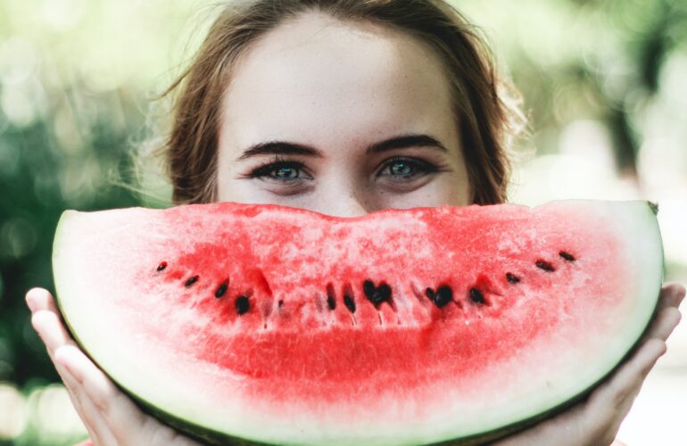
[[[220,125],[232,145],[455,130],[442,62],[396,29],[303,13],[253,42],[232,71]]]

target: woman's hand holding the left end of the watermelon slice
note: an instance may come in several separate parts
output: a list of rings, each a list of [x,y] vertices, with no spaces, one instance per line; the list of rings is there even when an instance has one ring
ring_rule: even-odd
[[[79,350],[62,324],[53,296],[42,288],[26,294],[31,323],[46,344],[71,402],[95,445],[186,446],[196,442],[145,415]]]

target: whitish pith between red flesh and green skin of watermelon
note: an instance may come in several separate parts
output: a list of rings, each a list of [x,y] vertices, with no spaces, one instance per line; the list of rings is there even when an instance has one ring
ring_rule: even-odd
[[[388,413],[380,414],[377,419],[361,419],[356,425],[341,423],[342,417],[337,413],[340,408],[336,407],[328,408],[331,413],[322,414],[319,421],[310,419],[308,410],[299,411],[299,408],[294,408],[288,416],[278,419],[264,417],[260,409],[247,408],[246,401],[241,401],[240,398],[236,401],[223,401],[222,407],[218,407],[217,401],[211,399],[199,401],[180,398],[188,394],[203,394],[203,383],[198,382],[195,376],[195,364],[167,364],[173,373],[160,375],[159,370],[151,371],[146,368],[145,360],[131,360],[130,352],[127,351],[130,346],[119,345],[116,337],[103,335],[101,321],[91,318],[90,315],[94,313],[88,308],[88,304],[92,300],[88,299],[89,290],[79,286],[82,266],[79,265],[77,255],[79,249],[82,249],[79,248],[83,244],[82,236],[93,231],[95,220],[88,214],[65,212],[62,216],[54,244],[55,285],[58,295],[63,297],[60,304],[69,325],[79,334],[84,349],[101,367],[128,392],[190,424],[204,425],[219,432],[261,442],[370,445],[439,442],[488,432],[502,425],[533,417],[567,401],[614,368],[647,326],[658,299],[663,258],[658,225],[650,207],[646,202],[551,202],[545,206],[561,206],[561,209],[565,209],[571,204],[592,206],[594,211],[591,214],[617,221],[619,238],[625,241],[627,248],[624,258],[636,262],[634,270],[641,273],[633,277],[636,280],[634,288],[637,290],[635,306],[626,317],[623,325],[625,330],[617,333],[614,342],[607,345],[606,351],[597,354],[599,358],[594,364],[596,368],[570,369],[567,374],[559,376],[556,387],[550,388],[549,392],[527,392],[524,382],[523,393],[517,395],[517,398],[512,394],[502,395],[504,401],[495,404],[494,399],[499,398],[499,395],[490,394],[490,401],[484,401],[484,406],[480,406],[479,395],[460,403],[460,395],[452,395],[451,389],[445,388],[443,401],[436,402],[438,409],[432,418],[418,420],[416,424],[407,422],[407,413],[412,411],[413,401],[406,401],[409,406],[404,407],[401,404],[402,395],[400,398],[400,395],[394,393],[389,393],[388,401],[382,401]],[[122,220],[121,225],[112,230],[126,231],[126,221]],[[103,254],[103,261],[106,261],[106,254]],[[593,341],[590,339],[590,343]],[[565,340],[561,340],[559,344],[565,345]],[[161,356],[174,359],[174,351],[168,353]],[[145,351],[138,351],[138,354],[145,355]],[[150,351],[150,354],[153,355],[154,352]],[[550,351],[531,351],[528,354],[531,364],[552,364],[551,368],[556,367],[555,360],[544,356],[550,354]],[[522,363],[520,360],[520,365],[513,365],[513,373],[522,368]],[[499,372],[501,376],[509,376],[508,366],[501,367]],[[213,375],[211,369],[204,370],[203,373],[205,376]],[[542,367],[533,373],[545,374],[547,371]],[[237,395],[240,394],[242,379],[244,378],[236,376],[234,383],[227,383],[228,386],[236,385]],[[183,388],[180,388],[180,383],[184,384]],[[417,401],[418,404],[425,402]],[[406,421],[394,425],[394,410],[398,412],[400,419]],[[473,417],[466,419],[466,414],[472,414]],[[303,425],[308,426],[308,430],[297,428]]]

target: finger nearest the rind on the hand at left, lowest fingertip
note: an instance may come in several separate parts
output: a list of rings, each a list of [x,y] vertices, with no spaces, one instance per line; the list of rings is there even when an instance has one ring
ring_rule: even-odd
[[[64,346],[55,353],[55,360],[68,368],[81,384],[85,396],[103,414],[115,438],[130,439],[132,427],[145,425],[145,414],[82,351]]]

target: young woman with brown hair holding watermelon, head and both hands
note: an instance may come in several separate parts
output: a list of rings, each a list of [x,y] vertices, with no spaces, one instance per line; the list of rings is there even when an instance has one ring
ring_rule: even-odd
[[[229,4],[170,88],[174,200],[356,216],[505,201],[512,111],[484,46],[440,0]],[[680,318],[662,288],[641,347],[585,401],[501,444],[609,444]],[[75,345],[46,290],[33,325],[96,444],[190,444]]]

